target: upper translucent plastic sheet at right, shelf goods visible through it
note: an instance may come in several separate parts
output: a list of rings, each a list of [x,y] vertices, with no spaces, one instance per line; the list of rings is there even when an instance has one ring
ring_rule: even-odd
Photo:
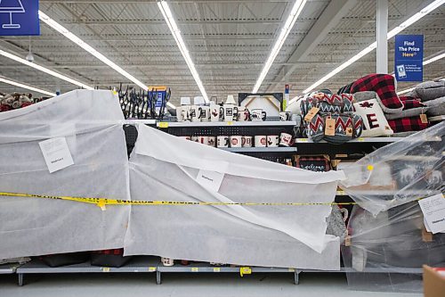
[[[445,122],[388,144],[344,168],[340,182],[360,206],[377,215],[419,198],[441,194]]]

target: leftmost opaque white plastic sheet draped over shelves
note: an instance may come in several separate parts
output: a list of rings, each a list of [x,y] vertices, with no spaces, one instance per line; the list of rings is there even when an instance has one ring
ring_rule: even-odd
[[[129,199],[124,120],[111,91],[78,90],[0,113],[0,192]],[[66,137],[74,165],[50,173],[39,142]],[[0,259],[124,245],[129,206],[0,197]]]

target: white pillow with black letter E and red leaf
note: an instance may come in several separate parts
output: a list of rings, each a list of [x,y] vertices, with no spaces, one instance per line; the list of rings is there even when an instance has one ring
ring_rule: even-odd
[[[370,99],[354,103],[355,114],[363,119],[363,137],[390,136],[393,131],[384,117],[384,111],[376,101]]]

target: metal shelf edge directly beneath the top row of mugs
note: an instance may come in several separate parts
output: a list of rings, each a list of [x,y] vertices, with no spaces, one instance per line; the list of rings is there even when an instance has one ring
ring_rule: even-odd
[[[251,120],[251,121],[198,121],[198,122],[167,122],[157,123],[158,128],[190,128],[190,127],[283,127],[295,126],[294,120]]]

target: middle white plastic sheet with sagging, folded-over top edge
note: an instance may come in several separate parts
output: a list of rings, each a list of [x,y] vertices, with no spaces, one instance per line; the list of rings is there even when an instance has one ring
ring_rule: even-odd
[[[325,173],[233,154],[139,126],[130,158],[132,200],[324,202],[326,205],[133,206],[125,254],[257,266],[339,269],[326,218],[343,172]],[[199,170],[223,174],[218,191]]]

